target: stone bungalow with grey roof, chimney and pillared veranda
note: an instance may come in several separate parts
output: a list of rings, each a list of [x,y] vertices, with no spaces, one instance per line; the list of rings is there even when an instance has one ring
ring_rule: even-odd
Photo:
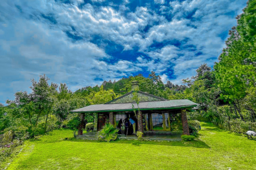
[[[187,112],[197,106],[188,99],[167,100],[161,97],[138,91],[139,109],[133,100],[133,92],[138,89],[138,81],[132,82],[132,91],[109,101],[105,104],[90,105],[76,109],[74,113],[80,113],[81,124],[78,128],[78,135],[83,134],[85,128],[85,114],[94,113],[94,131],[99,131],[102,126],[110,123],[116,126],[122,119],[132,118],[135,122],[135,130],[144,134],[171,132],[189,134]],[[133,109],[138,112],[138,119],[134,116]],[[124,128],[123,128],[124,130]],[[169,133],[168,133],[169,132]]]

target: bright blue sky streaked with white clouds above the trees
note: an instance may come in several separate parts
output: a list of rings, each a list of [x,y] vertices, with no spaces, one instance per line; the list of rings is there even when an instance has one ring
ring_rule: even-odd
[[[0,3],[0,103],[46,74],[75,91],[147,76],[181,83],[225,47],[244,0]]]

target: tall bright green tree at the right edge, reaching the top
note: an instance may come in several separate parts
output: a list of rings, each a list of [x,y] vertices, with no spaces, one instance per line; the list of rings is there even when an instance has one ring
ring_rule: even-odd
[[[237,27],[229,31],[227,48],[214,65],[221,97],[230,102],[246,96],[246,89],[256,82],[256,17],[255,0],[247,3],[244,13],[237,16]]]

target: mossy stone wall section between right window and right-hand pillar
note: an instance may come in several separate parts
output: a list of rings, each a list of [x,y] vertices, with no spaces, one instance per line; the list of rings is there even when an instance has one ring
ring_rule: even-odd
[[[181,120],[180,110],[170,112],[170,124],[171,124],[171,131],[182,130],[182,120]]]

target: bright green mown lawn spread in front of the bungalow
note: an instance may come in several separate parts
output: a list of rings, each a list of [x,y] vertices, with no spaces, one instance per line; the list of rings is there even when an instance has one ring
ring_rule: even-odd
[[[58,130],[25,148],[7,169],[256,169],[256,141],[202,123],[193,142],[98,142]],[[70,139],[64,140],[69,137]]]

